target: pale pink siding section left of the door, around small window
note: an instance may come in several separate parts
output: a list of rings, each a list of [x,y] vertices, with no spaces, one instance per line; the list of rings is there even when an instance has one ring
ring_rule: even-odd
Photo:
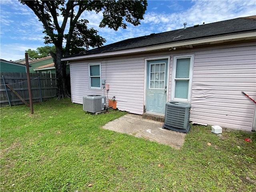
[[[89,89],[88,63],[101,62],[101,78],[109,90]],[[82,104],[82,97],[90,94],[116,97],[117,108],[134,114],[144,109],[144,58],[117,58],[114,60],[72,62],[70,66],[72,102]]]

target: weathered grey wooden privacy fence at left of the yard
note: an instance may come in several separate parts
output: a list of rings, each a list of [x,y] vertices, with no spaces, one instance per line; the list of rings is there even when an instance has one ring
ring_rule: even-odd
[[[22,99],[29,102],[26,73],[1,72],[0,77],[1,107],[24,104]],[[30,81],[33,102],[56,96],[55,74],[30,73]]]

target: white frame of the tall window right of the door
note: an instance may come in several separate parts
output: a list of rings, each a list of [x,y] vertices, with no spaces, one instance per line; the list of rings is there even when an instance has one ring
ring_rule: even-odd
[[[178,78],[179,80],[188,80],[188,99],[183,98],[175,98],[175,76],[176,76],[176,62],[177,59],[190,58],[190,70],[189,70],[189,78]],[[192,90],[192,74],[193,74],[193,64],[194,64],[194,55],[180,55],[173,57],[173,70],[172,70],[172,101],[182,101],[182,102],[191,102],[191,90]]]

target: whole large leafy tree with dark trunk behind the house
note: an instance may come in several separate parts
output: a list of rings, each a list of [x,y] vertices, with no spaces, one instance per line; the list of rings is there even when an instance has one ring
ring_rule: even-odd
[[[100,27],[118,30],[126,28],[127,23],[134,26],[140,24],[146,11],[147,1],[123,0],[56,0],[56,1],[25,1],[44,26],[46,44],[54,44],[56,52],[51,52],[56,68],[57,96],[68,97],[66,87],[66,63],[60,59],[63,56],[76,54],[81,50],[102,46],[106,40],[98,35],[94,28],[88,28],[88,20],[80,19],[83,12],[102,12]],[[65,45],[63,46],[65,42]]]

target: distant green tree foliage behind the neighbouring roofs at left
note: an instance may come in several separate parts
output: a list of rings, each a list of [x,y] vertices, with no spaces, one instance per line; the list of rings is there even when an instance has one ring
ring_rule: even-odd
[[[28,57],[32,59],[38,59],[38,58],[47,57],[51,52],[55,53],[56,48],[55,46],[46,45],[44,47],[38,47],[36,48],[36,50],[28,49],[25,52],[28,53]]]

